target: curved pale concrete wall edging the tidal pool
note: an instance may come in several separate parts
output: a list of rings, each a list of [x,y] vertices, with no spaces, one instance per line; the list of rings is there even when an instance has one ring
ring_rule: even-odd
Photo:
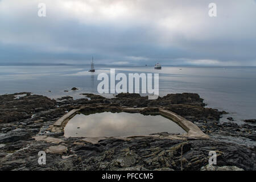
[[[56,132],[56,131],[63,132],[64,127],[65,125],[67,125],[69,119],[74,117],[79,111],[88,110],[88,109],[92,110],[92,108],[81,106],[79,109],[73,109],[69,111],[67,114],[63,115],[63,117],[61,117],[54,123],[52,127],[52,132]],[[96,108],[93,108],[93,109],[95,109],[93,113],[112,111],[112,112],[118,112],[118,113],[127,112],[127,113],[141,113],[141,114],[159,114],[159,115],[162,115],[163,117],[170,119],[171,121],[174,121],[175,123],[177,123],[177,125],[182,127],[187,132],[187,134],[185,134],[184,136],[175,135],[174,138],[180,138],[180,137],[205,138],[205,139],[209,138],[207,134],[204,134],[203,131],[201,131],[199,127],[196,126],[191,121],[188,121],[187,119],[181,117],[180,115],[177,115],[172,111],[162,109],[161,107],[130,108],[130,107],[111,106],[111,107],[105,108],[104,106],[102,107],[97,106]],[[158,111],[151,112],[150,110],[158,110]],[[150,135],[150,136],[154,137],[154,135]]]

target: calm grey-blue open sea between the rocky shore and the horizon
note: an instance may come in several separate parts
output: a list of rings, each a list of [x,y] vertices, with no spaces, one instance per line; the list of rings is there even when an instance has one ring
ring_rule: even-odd
[[[110,73],[159,73],[159,94],[199,93],[208,107],[228,111],[221,121],[233,117],[234,122],[256,119],[256,67],[154,67],[97,66],[96,72],[88,72],[89,66],[1,66],[0,94],[32,92],[50,98],[84,96],[80,93],[97,93],[97,75]],[[72,91],[71,88],[79,88]],[[69,90],[69,92],[64,92]],[[51,91],[51,92],[48,92]],[[104,95],[110,97],[112,95]]]

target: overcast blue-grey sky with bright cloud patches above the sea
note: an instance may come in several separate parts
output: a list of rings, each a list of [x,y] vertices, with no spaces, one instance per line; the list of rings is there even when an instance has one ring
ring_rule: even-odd
[[[256,66],[256,1],[0,0],[0,63],[92,55],[97,64]]]

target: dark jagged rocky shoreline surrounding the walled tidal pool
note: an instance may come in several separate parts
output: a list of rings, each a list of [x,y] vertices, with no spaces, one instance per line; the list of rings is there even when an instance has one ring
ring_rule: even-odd
[[[256,126],[220,123],[225,111],[205,107],[198,94],[168,94],[158,100],[139,94],[118,94],[112,99],[84,95],[87,98],[79,100],[70,96],[51,100],[31,93],[0,96],[0,170],[181,170],[181,163],[183,170],[205,170],[212,150],[217,152],[219,167],[256,169]],[[173,134],[160,133],[159,137],[90,142],[52,132],[57,119],[81,106],[88,114],[115,112],[117,107],[146,107],[142,114],[148,114],[161,107],[193,122],[210,139],[170,139]],[[39,151],[46,151],[46,165],[38,164]]]

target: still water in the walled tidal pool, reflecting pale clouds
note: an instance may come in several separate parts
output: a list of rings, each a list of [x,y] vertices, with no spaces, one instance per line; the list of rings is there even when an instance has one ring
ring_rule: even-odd
[[[125,112],[76,114],[64,128],[65,137],[127,137],[162,132],[186,133],[175,122],[161,115]]]

